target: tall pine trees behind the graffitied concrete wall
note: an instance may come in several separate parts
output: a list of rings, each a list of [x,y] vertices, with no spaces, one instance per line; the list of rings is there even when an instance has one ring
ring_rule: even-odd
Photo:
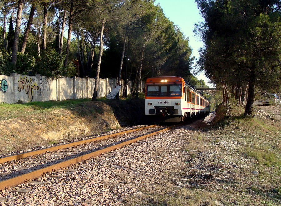
[[[122,76],[134,80],[135,92],[146,77],[190,76],[188,37],[153,0],[5,0],[0,7],[1,74]]]

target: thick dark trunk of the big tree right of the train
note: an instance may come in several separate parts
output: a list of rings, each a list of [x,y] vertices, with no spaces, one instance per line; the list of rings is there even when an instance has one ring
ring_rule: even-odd
[[[245,106],[244,116],[252,115],[253,105],[254,105],[254,96],[255,96],[255,83],[256,83],[256,73],[254,67],[251,69],[250,80],[249,80],[249,89],[248,89],[248,98]]]

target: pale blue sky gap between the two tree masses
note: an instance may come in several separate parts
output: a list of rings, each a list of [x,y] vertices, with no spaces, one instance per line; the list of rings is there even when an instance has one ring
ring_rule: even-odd
[[[203,47],[203,42],[193,33],[194,24],[203,22],[195,0],[155,0],[155,4],[160,4],[165,16],[180,27],[181,32],[189,37],[189,45],[192,48],[192,56],[199,59],[198,50]],[[203,79],[209,87],[213,87],[201,72],[196,76],[199,80]]]

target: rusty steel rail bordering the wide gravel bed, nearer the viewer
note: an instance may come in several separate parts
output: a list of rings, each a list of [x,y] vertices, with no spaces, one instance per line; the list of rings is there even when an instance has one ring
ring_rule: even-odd
[[[180,125],[182,125],[182,124],[180,124]],[[175,127],[175,126],[179,126],[179,125],[173,125],[173,126],[170,126],[170,127],[166,127],[164,129],[161,129],[161,130],[158,130],[158,131],[146,134],[146,135],[142,135],[140,137],[136,137],[134,139],[127,140],[127,141],[118,143],[116,145],[112,145],[112,146],[103,148],[101,150],[97,150],[95,152],[84,154],[84,155],[81,155],[79,157],[72,158],[72,159],[69,159],[69,160],[57,163],[57,164],[53,164],[51,166],[48,166],[48,167],[45,167],[45,168],[42,168],[42,169],[38,169],[38,170],[29,172],[29,173],[26,173],[26,174],[22,174],[22,175],[19,175],[19,176],[10,178],[10,179],[2,180],[2,181],[0,181],[0,190],[6,189],[6,188],[9,189],[9,188],[14,187],[14,186],[16,186],[18,184],[21,184],[21,183],[28,182],[30,180],[39,178],[42,175],[46,174],[47,172],[53,172],[53,171],[55,171],[57,169],[64,169],[64,168],[66,168],[66,167],[68,167],[70,165],[73,165],[75,163],[81,162],[83,160],[86,160],[86,159],[89,159],[89,158],[92,158],[92,157],[99,156],[99,155],[101,155],[103,153],[115,150],[115,149],[120,148],[120,147],[122,147],[124,145],[128,145],[128,144],[131,144],[133,142],[142,140],[142,139],[144,139],[146,137],[157,135],[158,133],[166,131],[166,130],[169,130],[170,128]]]

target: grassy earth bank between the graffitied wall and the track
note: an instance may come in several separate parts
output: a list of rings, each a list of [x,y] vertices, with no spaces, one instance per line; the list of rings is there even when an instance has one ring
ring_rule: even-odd
[[[0,154],[144,123],[144,100],[0,104]]]

